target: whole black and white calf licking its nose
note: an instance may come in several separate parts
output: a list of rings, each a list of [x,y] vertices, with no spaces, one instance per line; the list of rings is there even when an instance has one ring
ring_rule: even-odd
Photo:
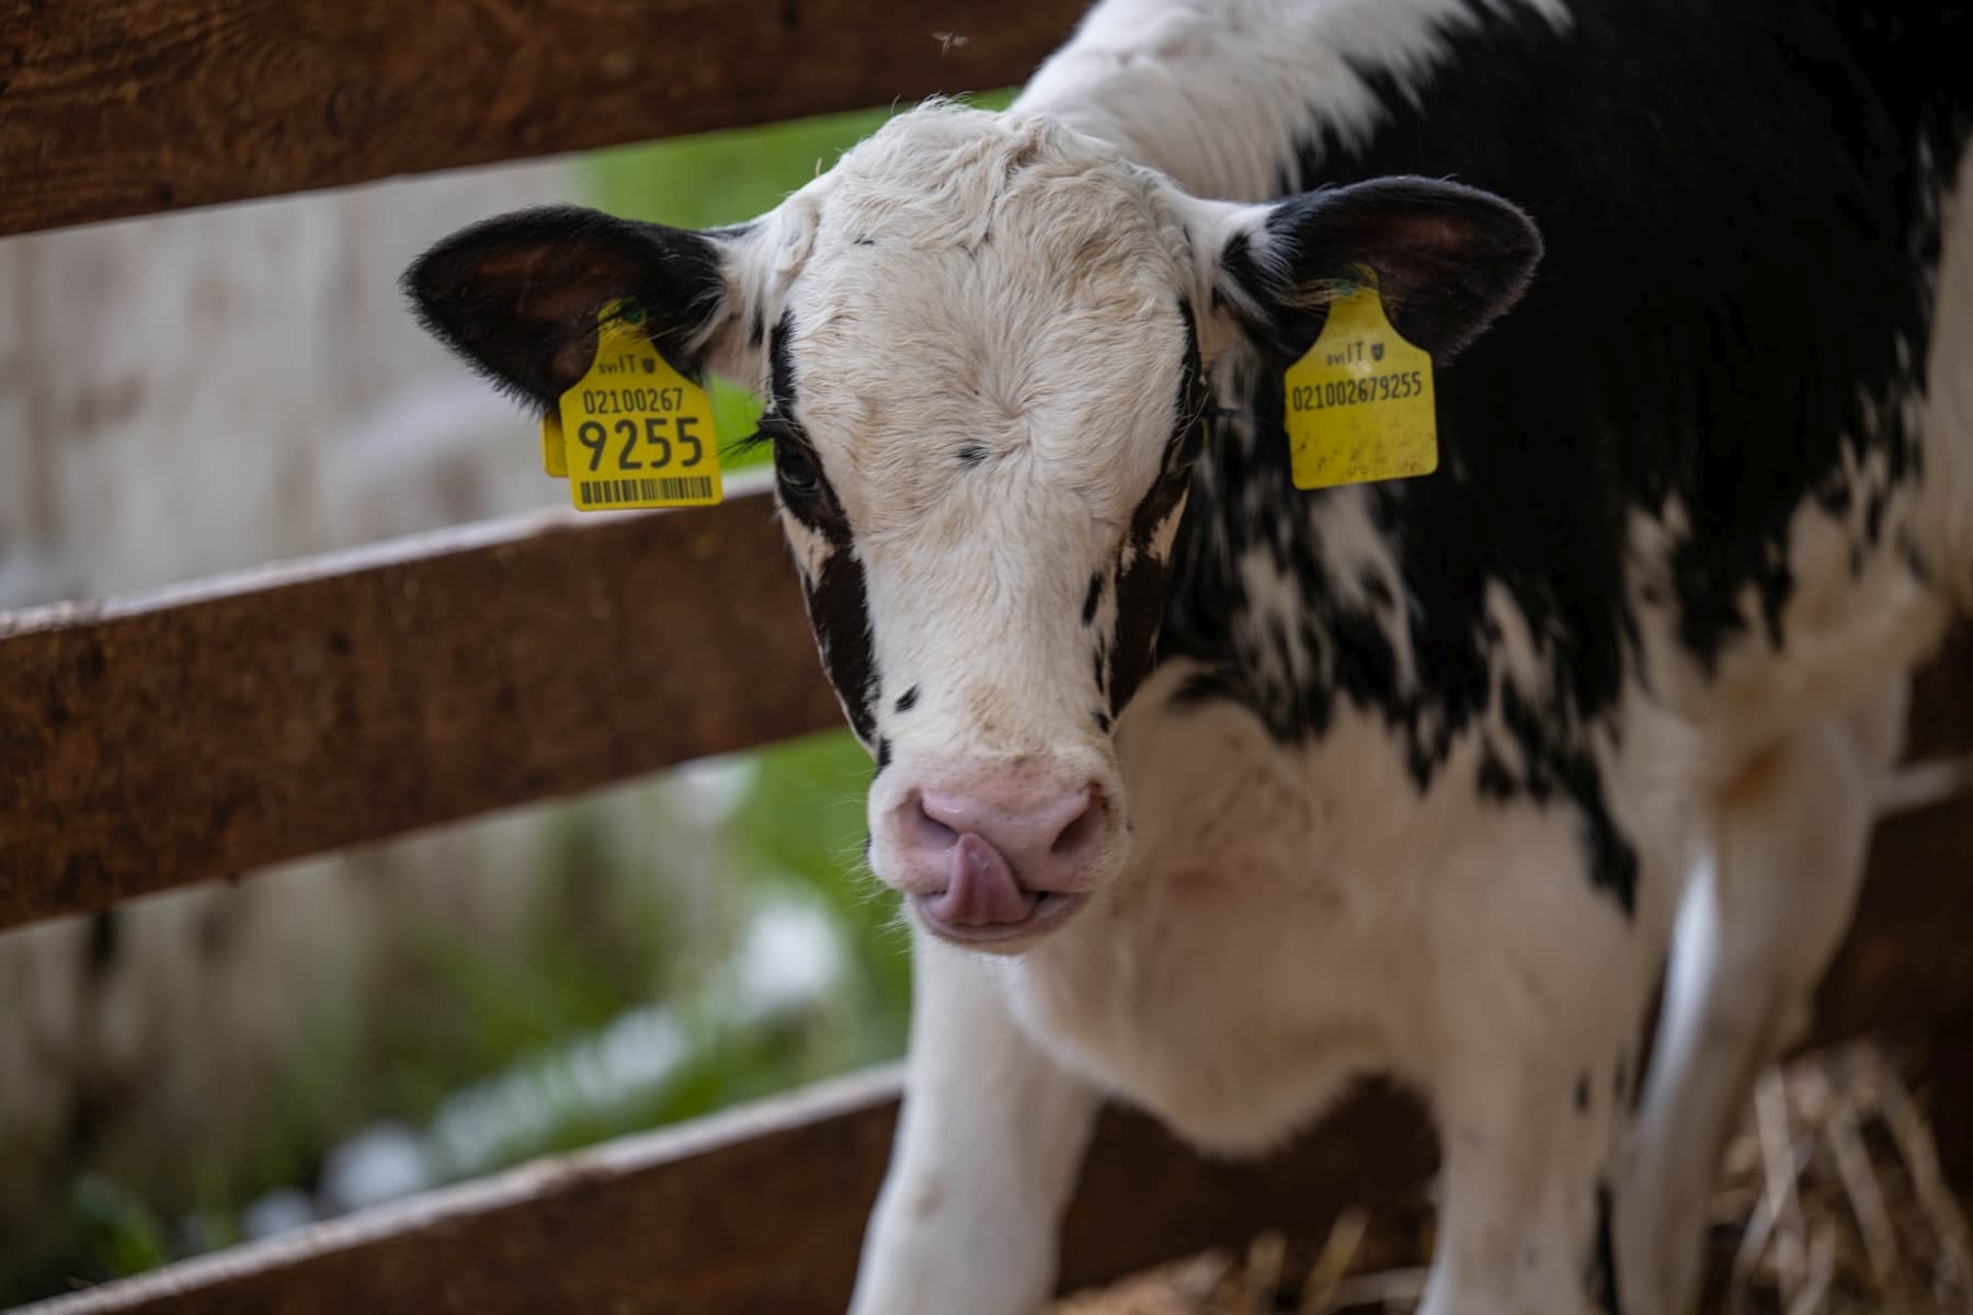
[[[1430,1315],[1689,1309],[1973,576],[1967,53],[1959,4],[1105,0],[752,225],[410,270],[539,408],[620,296],[769,398],[919,970],[858,1311],[1034,1309],[1105,1096],[1259,1151],[1365,1073],[1440,1128]],[[1357,264],[1464,349],[1442,465],[1300,493]]]

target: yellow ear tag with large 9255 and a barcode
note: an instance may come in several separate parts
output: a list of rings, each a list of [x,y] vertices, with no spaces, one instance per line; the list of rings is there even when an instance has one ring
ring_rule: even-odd
[[[547,471],[568,477],[576,511],[718,503],[712,398],[659,355],[635,304],[612,302],[596,321],[590,373],[541,422]]]

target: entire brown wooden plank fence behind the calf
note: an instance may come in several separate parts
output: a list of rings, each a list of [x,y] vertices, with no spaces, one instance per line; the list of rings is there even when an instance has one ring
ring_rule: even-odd
[[[0,233],[998,87],[1079,8],[0,0]],[[710,511],[0,615],[0,927],[835,726],[766,499],[736,483]],[[1961,647],[1924,680],[1821,1039],[1973,1035],[1965,670]],[[1967,1108],[1967,1069],[1936,1065],[1936,1098]],[[866,1074],[34,1309],[840,1309],[894,1114],[896,1074]],[[1967,1132],[1941,1128],[1961,1173]],[[1320,1226],[1413,1193],[1432,1153],[1387,1092],[1247,1167],[1113,1114],[1065,1281]]]

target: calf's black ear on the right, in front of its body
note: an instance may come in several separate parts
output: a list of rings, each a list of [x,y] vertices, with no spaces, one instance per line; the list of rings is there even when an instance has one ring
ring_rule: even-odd
[[[1338,286],[1369,268],[1385,313],[1444,365],[1527,292],[1541,233],[1476,187],[1379,177],[1275,205],[1223,256],[1249,331],[1284,355],[1308,351]]]

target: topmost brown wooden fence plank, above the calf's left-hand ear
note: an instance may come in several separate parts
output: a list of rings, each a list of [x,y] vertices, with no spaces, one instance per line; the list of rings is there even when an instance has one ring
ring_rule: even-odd
[[[1083,0],[0,0],[0,233],[1024,79]]]

